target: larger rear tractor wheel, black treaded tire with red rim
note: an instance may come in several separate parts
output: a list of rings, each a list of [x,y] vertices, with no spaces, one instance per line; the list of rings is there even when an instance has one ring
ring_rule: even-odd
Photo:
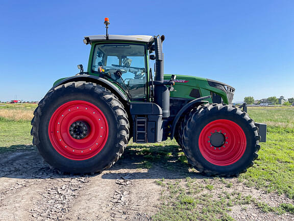
[[[62,172],[101,172],[120,158],[129,139],[124,106],[105,87],[83,81],[48,92],[32,125],[41,157]]]

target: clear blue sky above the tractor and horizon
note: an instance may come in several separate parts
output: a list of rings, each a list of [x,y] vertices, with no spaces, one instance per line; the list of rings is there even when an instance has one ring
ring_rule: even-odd
[[[87,67],[83,37],[164,34],[165,74],[200,76],[245,96],[294,97],[294,1],[1,1],[0,100],[40,100]]]

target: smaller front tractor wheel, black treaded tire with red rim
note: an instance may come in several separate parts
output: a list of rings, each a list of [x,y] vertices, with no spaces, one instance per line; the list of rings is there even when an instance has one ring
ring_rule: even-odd
[[[258,128],[239,108],[203,104],[183,124],[188,162],[205,175],[236,176],[258,157]]]

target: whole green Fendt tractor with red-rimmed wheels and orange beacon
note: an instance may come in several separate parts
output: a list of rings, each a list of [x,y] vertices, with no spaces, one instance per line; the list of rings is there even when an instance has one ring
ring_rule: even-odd
[[[206,175],[246,172],[266,139],[266,124],[232,106],[235,89],[185,75],[164,75],[164,36],[92,35],[87,72],[56,81],[32,120],[33,144],[51,168],[101,172],[126,145],[176,139]],[[155,60],[154,77],[150,60]]]

